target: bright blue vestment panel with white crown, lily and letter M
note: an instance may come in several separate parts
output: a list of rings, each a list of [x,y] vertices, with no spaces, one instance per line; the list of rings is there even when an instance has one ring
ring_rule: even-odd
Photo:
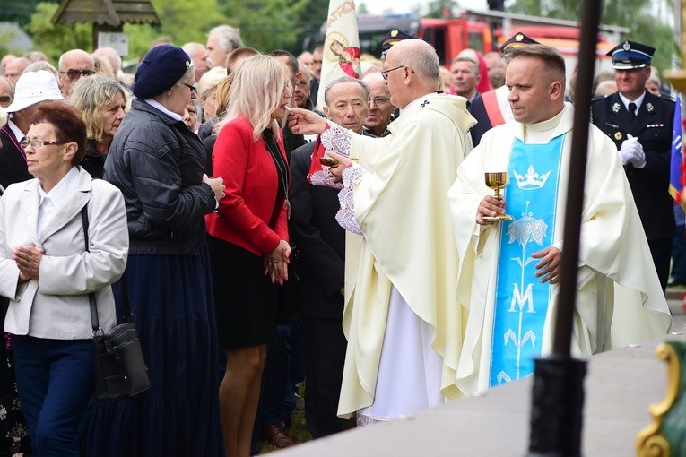
[[[515,140],[504,198],[515,220],[500,222],[489,386],[534,373],[541,355],[550,283],[535,278],[540,259],[531,254],[552,244],[560,160],[565,135],[547,144]]]

